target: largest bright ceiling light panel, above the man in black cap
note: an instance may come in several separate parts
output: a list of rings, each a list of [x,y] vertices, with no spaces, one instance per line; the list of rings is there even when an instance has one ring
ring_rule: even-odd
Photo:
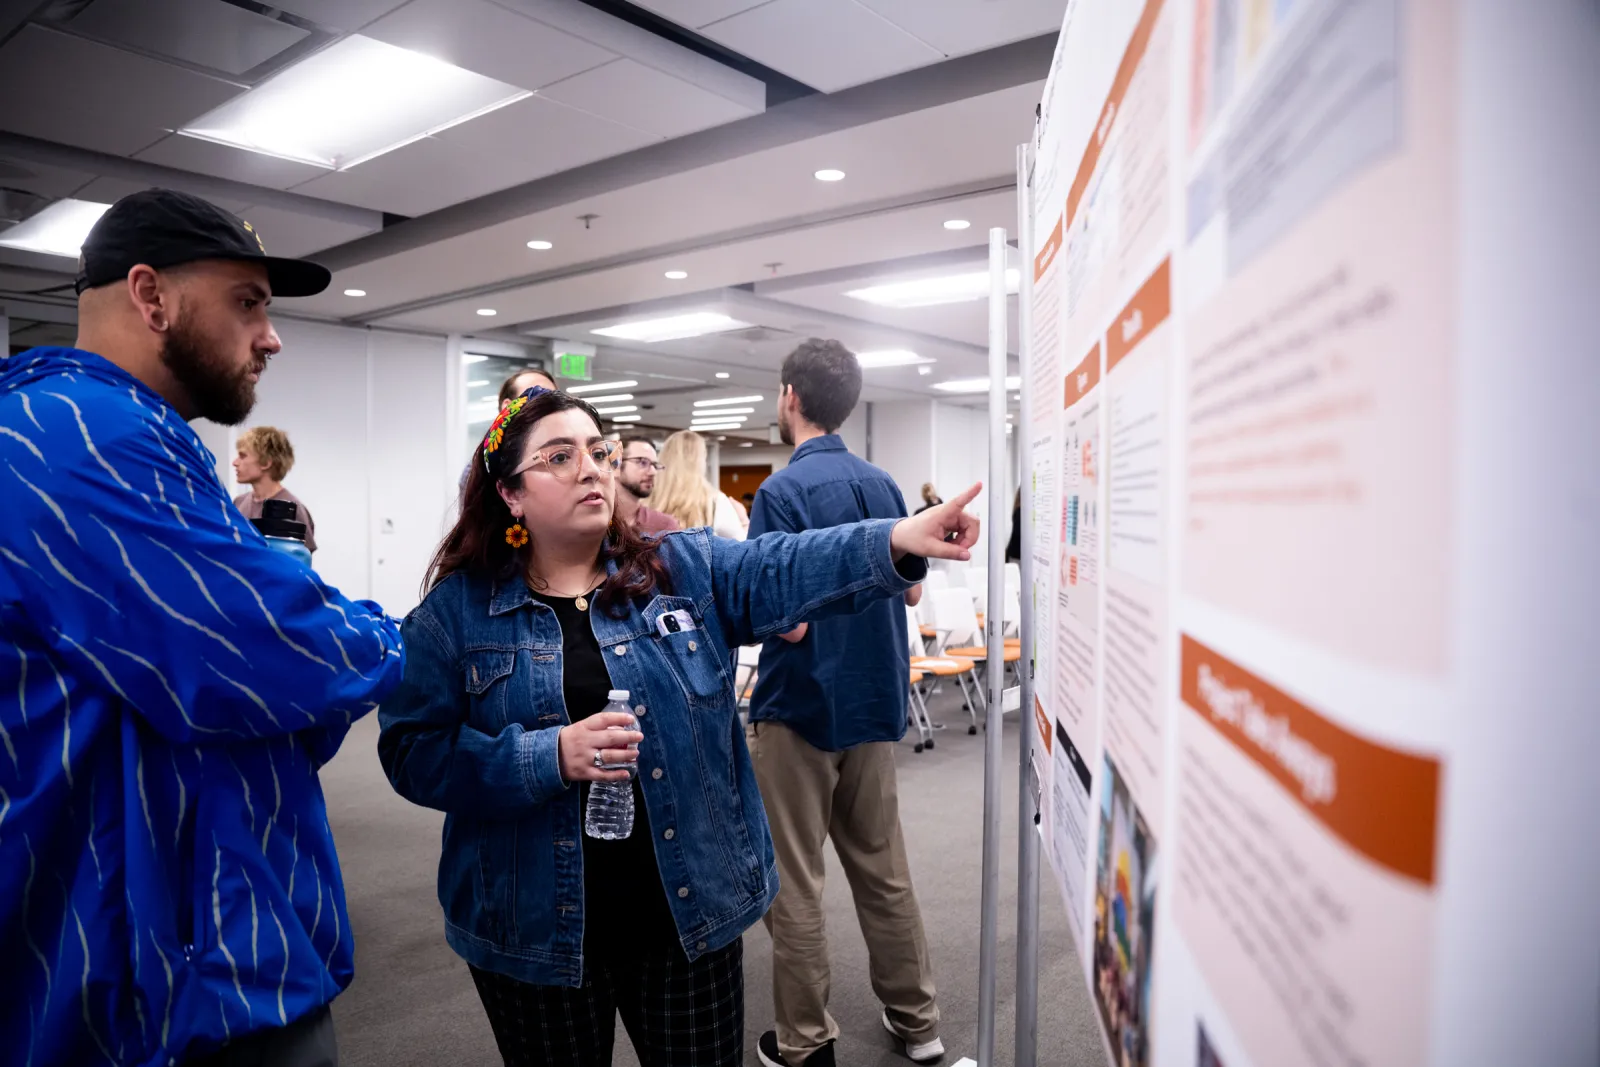
[[[533,96],[352,34],[178,133],[342,171]]]

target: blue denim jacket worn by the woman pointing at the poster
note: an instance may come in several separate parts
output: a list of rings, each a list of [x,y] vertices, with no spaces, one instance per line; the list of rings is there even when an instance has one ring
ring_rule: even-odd
[[[667,534],[672,595],[622,619],[590,608],[611,686],[645,734],[638,768],[656,862],[685,953],[733,942],[778,894],[766,813],[734,702],[734,649],[806,619],[904,593],[926,563],[890,553],[893,522],[725,541]],[[613,566],[614,569],[614,566]],[[693,627],[661,617],[686,611]],[[582,981],[581,790],[562,781],[555,613],[522,581],[453,574],[406,619],[405,680],[378,713],[395,790],[445,811],[445,937],[474,966]],[[621,918],[626,917],[608,917]]]

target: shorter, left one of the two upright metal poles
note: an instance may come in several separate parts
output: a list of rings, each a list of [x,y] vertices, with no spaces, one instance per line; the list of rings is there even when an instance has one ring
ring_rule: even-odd
[[[995,1062],[1000,933],[1000,741],[1005,721],[1005,229],[989,230],[989,707],[984,721],[984,885],[978,941],[978,1067]]]

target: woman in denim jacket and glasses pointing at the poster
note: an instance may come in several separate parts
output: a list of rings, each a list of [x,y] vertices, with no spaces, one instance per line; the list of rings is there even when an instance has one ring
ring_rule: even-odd
[[[963,496],[899,523],[646,541],[611,522],[614,467],[582,400],[530,389],[502,411],[405,622],[379,757],[445,813],[445,939],[507,1064],[610,1064],[621,1013],[643,1064],[736,1065],[739,936],[778,872],[733,651],[906,592],[925,557],[968,558],[978,522]],[[608,689],[630,715],[600,712]],[[589,782],[634,760],[632,837],[586,837]]]

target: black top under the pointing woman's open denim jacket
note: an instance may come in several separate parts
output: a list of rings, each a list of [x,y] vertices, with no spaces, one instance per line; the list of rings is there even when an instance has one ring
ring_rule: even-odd
[[[571,597],[534,597],[555,611],[562,624],[562,696],[566,717],[582,721],[605,710],[611,675],[600,653],[589,614]],[[645,755],[642,766],[650,766]],[[589,805],[589,785],[579,797]],[[622,945],[630,953],[677,949],[678,928],[661,885],[656,849],[650,837],[645,793],[634,779],[634,833],[622,841],[602,841],[584,833],[584,950],[605,952]],[[589,931],[595,931],[590,936]]]

